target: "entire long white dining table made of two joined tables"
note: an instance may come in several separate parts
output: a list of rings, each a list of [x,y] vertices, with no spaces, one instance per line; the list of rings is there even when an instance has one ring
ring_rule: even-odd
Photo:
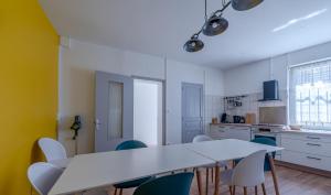
[[[281,148],[227,139],[81,154],[71,160],[49,195],[77,194],[146,176],[210,164],[216,166],[215,195],[218,195],[220,166],[217,163],[245,158],[259,150],[275,152]],[[269,160],[274,180],[277,182],[273,158]],[[277,193],[279,194],[278,191]]]

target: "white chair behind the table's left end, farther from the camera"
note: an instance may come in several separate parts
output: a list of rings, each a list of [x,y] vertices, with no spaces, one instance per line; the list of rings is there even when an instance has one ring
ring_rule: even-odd
[[[71,159],[67,158],[64,147],[58,141],[51,138],[41,138],[38,144],[49,163],[62,169],[65,169],[70,163]]]

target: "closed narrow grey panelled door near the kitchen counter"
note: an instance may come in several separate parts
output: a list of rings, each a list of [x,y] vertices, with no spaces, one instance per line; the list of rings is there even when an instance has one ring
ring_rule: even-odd
[[[203,86],[182,84],[182,142],[203,133]]]

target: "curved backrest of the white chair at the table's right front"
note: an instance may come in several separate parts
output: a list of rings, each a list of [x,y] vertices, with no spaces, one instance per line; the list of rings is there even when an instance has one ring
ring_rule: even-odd
[[[232,183],[236,186],[256,186],[265,182],[265,150],[257,151],[243,159],[234,169]]]

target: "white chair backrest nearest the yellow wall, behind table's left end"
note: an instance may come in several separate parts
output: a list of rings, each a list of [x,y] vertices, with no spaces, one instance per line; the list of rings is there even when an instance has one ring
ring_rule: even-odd
[[[49,162],[58,159],[67,159],[64,147],[54,139],[41,138],[39,139],[38,144]]]

